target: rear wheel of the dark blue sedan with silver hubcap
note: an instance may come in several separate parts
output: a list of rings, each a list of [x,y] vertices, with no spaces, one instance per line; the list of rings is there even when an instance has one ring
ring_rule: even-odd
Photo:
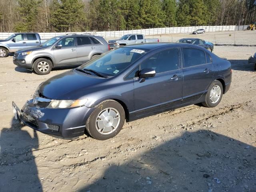
[[[205,101],[202,102],[202,105],[205,107],[216,107],[221,101],[222,94],[223,86],[220,81],[215,80],[208,88]]]

